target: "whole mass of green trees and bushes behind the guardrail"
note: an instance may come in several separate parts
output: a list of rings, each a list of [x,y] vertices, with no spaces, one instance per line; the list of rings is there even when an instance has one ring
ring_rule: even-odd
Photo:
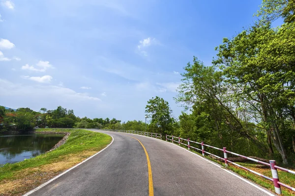
[[[212,64],[194,57],[184,67],[175,100],[188,112],[178,120],[164,99],[148,101],[148,128],[294,168],[295,1],[263,0],[256,15],[221,41]]]

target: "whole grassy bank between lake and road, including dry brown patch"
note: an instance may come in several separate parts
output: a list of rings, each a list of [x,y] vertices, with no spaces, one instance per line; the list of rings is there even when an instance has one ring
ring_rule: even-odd
[[[71,129],[38,129],[38,131],[71,132],[59,148],[0,168],[0,196],[22,195],[55,175],[85,160],[112,141],[109,135]]]

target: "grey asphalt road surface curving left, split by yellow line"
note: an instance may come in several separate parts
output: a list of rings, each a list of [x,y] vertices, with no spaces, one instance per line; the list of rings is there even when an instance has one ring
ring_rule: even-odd
[[[31,196],[148,196],[148,151],[155,196],[266,196],[214,164],[176,145],[146,136],[114,137],[104,151]],[[132,138],[132,137],[134,138]]]

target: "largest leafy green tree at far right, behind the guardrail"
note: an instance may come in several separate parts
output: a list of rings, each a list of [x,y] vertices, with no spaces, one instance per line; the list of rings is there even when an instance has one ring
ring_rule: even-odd
[[[272,141],[285,164],[286,147],[291,144],[282,135],[294,133],[294,128],[286,126],[295,111],[294,27],[293,23],[277,29],[252,26],[231,40],[225,38],[213,61],[229,85],[238,89],[236,98],[245,100],[255,112],[255,120],[266,130],[269,148]]]

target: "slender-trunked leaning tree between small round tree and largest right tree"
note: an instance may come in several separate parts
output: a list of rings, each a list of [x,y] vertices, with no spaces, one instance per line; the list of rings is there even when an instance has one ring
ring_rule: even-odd
[[[239,118],[239,102],[231,97],[235,89],[226,85],[222,72],[214,66],[205,66],[196,57],[193,64],[188,63],[184,70],[183,83],[178,88],[176,101],[183,103],[186,109],[192,106],[191,110],[196,118],[190,119],[195,120],[195,131],[213,131],[221,142],[231,141],[232,147],[235,146],[236,138],[243,137],[266,151],[263,142]],[[182,121],[188,119],[184,117],[186,116],[182,115],[180,118],[181,126]]]

